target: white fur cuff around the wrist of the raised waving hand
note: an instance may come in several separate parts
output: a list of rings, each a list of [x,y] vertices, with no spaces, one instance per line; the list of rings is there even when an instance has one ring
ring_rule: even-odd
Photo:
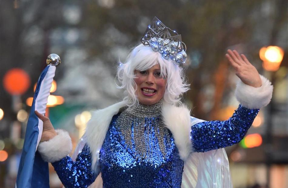
[[[249,86],[244,84],[241,80],[237,83],[235,91],[236,99],[244,107],[259,109],[266,106],[271,101],[273,86],[264,76],[260,75],[260,78],[262,81],[261,87]]]

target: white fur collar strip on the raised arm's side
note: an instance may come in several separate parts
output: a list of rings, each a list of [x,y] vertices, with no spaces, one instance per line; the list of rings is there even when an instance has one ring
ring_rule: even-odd
[[[186,106],[176,107],[163,103],[162,117],[165,126],[173,134],[180,159],[185,161],[192,152],[190,110]]]

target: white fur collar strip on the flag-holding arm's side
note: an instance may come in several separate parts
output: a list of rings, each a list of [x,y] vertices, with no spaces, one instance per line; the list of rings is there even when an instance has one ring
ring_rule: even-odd
[[[91,119],[87,123],[85,136],[87,137],[87,143],[92,154],[92,170],[94,170],[96,174],[99,170],[99,151],[104,142],[112,117],[118,114],[119,109],[125,107],[125,104],[124,101],[121,101],[102,110],[97,110],[93,112]]]

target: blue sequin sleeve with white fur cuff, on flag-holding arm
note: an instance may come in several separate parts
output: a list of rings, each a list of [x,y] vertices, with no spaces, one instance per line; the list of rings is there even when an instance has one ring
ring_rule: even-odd
[[[56,130],[57,135],[52,139],[40,142],[37,150],[42,159],[52,163],[59,179],[66,188],[87,187],[96,179],[91,170],[91,153],[86,144],[78,154],[75,162],[68,154],[72,150],[72,142],[68,132]]]

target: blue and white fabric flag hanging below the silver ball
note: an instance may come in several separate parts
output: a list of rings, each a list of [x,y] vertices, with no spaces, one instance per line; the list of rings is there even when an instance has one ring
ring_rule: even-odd
[[[41,73],[28,118],[15,188],[49,188],[48,163],[37,152],[43,131],[43,121],[36,114],[45,114],[46,104],[56,67],[48,65]]]

